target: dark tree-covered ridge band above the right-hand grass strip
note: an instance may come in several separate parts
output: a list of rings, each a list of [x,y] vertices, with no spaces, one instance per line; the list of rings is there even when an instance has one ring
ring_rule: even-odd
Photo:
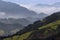
[[[24,32],[36,30],[37,28],[39,28],[41,26],[44,26],[46,24],[49,24],[49,23],[57,21],[57,20],[60,20],[60,12],[56,12],[56,13],[50,15],[50,16],[44,18],[42,21],[38,20],[38,21],[34,22],[33,24],[28,25],[23,30],[18,32],[18,34],[23,34]]]

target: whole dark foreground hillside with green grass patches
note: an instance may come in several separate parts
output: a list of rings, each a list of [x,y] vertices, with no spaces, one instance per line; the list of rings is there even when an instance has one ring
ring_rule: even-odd
[[[23,29],[24,32],[22,31],[22,33],[21,31],[19,31],[16,34],[11,36],[0,37],[0,39],[17,40],[18,38],[18,40],[59,40],[60,39],[60,35],[59,35],[60,34],[60,12],[56,12],[46,18],[47,20],[50,19],[51,21],[50,22],[47,20],[36,21],[34,24],[30,24],[30,27],[32,28],[29,28],[27,30],[26,27],[25,28],[26,31]]]

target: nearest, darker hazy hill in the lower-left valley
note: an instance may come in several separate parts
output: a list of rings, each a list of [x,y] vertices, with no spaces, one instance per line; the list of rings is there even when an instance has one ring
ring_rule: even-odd
[[[12,34],[16,33],[17,31],[23,29],[23,26],[18,23],[6,24],[6,23],[0,22],[0,29],[4,31],[3,35],[1,35],[1,36],[7,36],[7,35],[12,35]],[[18,30],[16,30],[16,29],[18,29]],[[16,31],[11,33],[11,31],[13,31],[13,30],[16,30]]]

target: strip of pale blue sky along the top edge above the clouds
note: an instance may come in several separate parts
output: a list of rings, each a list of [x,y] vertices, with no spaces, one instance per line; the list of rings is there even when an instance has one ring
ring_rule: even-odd
[[[52,4],[55,2],[60,2],[60,0],[5,0],[5,1],[11,1],[21,4],[38,4],[38,3]]]

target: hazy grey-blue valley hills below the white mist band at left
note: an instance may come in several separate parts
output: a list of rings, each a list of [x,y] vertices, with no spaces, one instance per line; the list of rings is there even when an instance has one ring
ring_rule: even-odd
[[[3,31],[2,35],[5,35],[5,36],[12,35],[12,34],[15,34],[17,31],[22,30],[25,26],[27,26],[28,24],[31,24],[31,23],[32,22],[30,22],[24,18],[0,19],[0,30]]]

